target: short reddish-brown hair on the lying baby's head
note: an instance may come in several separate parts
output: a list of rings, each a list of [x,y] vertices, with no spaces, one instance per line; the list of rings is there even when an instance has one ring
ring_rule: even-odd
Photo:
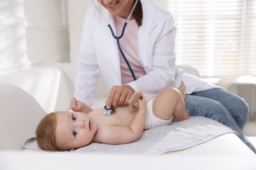
[[[37,144],[42,150],[60,150],[56,145],[56,117],[54,112],[47,114],[38,124],[36,133]]]

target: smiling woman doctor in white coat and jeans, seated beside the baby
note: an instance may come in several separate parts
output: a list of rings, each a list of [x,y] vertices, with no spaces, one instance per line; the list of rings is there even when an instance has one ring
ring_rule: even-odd
[[[242,132],[249,112],[244,99],[175,69],[176,28],[173,16],[150,5],[146,0],[137,2],[119,41],[137,80],[133,79],[106,21],[112,26],[115,35],[120,35],[135,2],[136,0],[98,0],[97,9],[92,6],[87,10],[75,97],[91,106],[100,73],[111,89],[106,107],[127,105],[135,91],[146,93],[149,100],[164,88],[177,88],[181,80],[184,80],[185,104],[190,116],[205,116],[230,126],[255,151]]]

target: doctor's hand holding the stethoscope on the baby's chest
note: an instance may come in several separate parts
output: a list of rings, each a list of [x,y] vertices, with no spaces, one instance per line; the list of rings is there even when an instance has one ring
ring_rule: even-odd
[[[133,88],[131,86],[113,86],[106,100],[106,107],[110,108],[113,105],[116,108],[117,105],[128,105],[128,101],[133,95]]]

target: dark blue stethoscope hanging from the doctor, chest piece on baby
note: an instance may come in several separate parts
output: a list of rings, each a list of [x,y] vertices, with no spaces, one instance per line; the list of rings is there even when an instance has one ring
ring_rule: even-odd
[[[93,1],[93,0],[92,0]],[[103,16],[103,14],[100,12],[100,10],[98,10],[98,8],[96,7],[95,5],[95,2],[93,1],[93,5],[95,6],[96,10],[98,10],[98,12],[100,13],[100,16],[102,16],[103,20],[106,22],[106,24],[108,25],[108,27],[110,28],[110,31],[112,33],[112,36],[114,37],[114,39],[116,39],[116,42],[117,42],[117,46],[118,46],[118,49],[121,53],[121,56],[123,56],[123,59],[125,59],[125,63],[127,64],[130,72],[131,72],[131,75],[133,76],[133,80],[137,80],[135,74],[133,73],[133,69],[131,68],[131,65],[129,64],[129,61],[127,60],[127,58],[125,57],[125,54],[123,54],[123,50],[121,49],[121,46],[120,46],[120,42],[119,42],[119,39],[121,39],[121,37],[123,37],[123,34],[125,33],[125,27],[126,25],[128,24],[128,21],[129,19],[131,18],[131,14],[133,14],[133,10],[135,9],[136,5],[137,5],[137,1],[135,1],[135,5],[133,5],[133,9],[131,10],[131,13],[129,14],[127,20],[125,21],[125,24],[123,24],[123,29],[121,31],[121,35],[119,36],[116,36],[111,25],[108,23],[108,21],[106,20],[106,18]],[[114,112],[114,107],[111,106],[110,108],[106,108],[106,106],[104,107],[105,110],[103,110],[102,114],[106,115],[106,116],[110,116],[110,115],[113,115],[115,114]]]

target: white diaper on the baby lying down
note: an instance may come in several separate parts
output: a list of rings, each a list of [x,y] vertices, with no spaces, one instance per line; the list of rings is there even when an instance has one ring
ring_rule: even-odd
[[[162,120],[153,114],[153,103],[155,99],[156,97],[150,99],[150,101],[148,101],[148,105],[146,105],[147,114],[144,129],[152,129],[158,126],[166,126],[173,122],[173,116],[171,116],[169,120]]]

